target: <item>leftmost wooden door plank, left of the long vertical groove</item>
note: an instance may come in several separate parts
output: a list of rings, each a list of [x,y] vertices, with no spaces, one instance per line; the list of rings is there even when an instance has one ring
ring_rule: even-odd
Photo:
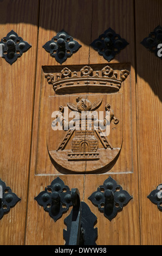
[[[0,221],[0,244],[23,245],[35,87],[38,1],[1,1],[0,16],[0,38],[14,29],[32,45],[12,65],[0,58],[0,178],[22,198]],[[24,25],[24,21],[27,24]]]

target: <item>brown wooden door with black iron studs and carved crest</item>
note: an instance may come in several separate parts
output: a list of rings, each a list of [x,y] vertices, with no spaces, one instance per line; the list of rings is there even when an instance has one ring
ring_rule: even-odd
[[[0,221],[0,244],[64,245],[64,218],[72,208],[54,222],[34,199],[59,176],[70,190],[79,189],[81,201],[96,215],[97,245],[160,245],[162,215],[147,196],[162,180],[161,59],[140,42],[161,25],[161,1],[5,0],[0,6],[1,38],[13,29],[32,46],[12,65],[0,58],[0,178],[21,198]],[[110,62],[90,46],[109,27],[129,43]],[[42,46],[62,29],[81,47],[60,64]],[[56,76],[63,68],[76,74],[84,66],[96,74],[109,66],[129,75],[117,94],[55,93],[47,74]],[[78,161],[79,172],[69,170],[63,158],[63,168],[51,161],[50,150],[59,147],[63,136],[58,131],[53,139],[51,114],[79,96],[112,102],[119,118],[119,126],[111,126],[110,142],[121,149],[99,171],[95,160]],[[97,171],[89,172],[92,166]],[[132,196],[112,221],[88,199],[109,176]]]

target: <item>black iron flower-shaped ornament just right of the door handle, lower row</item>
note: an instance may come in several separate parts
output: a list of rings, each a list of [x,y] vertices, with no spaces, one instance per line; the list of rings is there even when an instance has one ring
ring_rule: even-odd
[[[88,199],[111,221],[132,197],[109,176]]]

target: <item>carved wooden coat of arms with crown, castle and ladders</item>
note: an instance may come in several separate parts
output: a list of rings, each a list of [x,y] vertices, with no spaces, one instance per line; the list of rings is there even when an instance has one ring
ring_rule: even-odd
[[[55,95],[47,147],[51,161],[63,172],[100,173],[118,157],[122,145],[121,83],[128,70],[84,66],[46,74]],[[118,102],[118,104],[116,103]]]

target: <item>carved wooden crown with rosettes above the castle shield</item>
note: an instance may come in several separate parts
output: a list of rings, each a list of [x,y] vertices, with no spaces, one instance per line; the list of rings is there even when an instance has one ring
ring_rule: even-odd
[[[71,71],[68,68],[59,74],[46,74],[48,83],[53,84],[57,94],[80,92],[118,92],[121,83],[129,75],[128,70],[121,70],[120,74],[109,66],[100,71],[94,71],[90,66],[84,66],[80,71]]]

